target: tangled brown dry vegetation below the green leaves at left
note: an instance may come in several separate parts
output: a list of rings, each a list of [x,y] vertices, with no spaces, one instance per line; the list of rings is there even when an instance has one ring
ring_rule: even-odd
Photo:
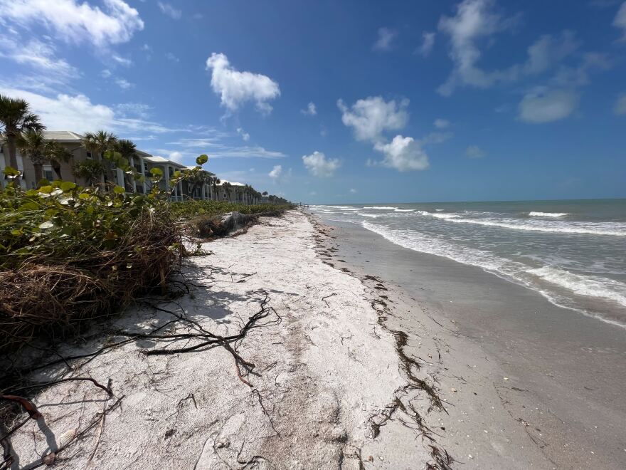
[[[0,271],[0,352],[34,338],[75,335],[87,320],[110,315],[140,291],[162,285],[181,256],[171,246],[180,243],[175,224],[143,216],[115,249],[77,254],[63,263],[33,257]]]

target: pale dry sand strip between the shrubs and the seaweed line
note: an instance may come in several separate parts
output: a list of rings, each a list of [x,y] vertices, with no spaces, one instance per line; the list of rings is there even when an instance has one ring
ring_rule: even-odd
[[[324,238],[298,211],[262,219],[203,246],[212,254],[184,270],[189,295],[129,309],[60,348],[64,357],[102,352],[31,380],[110,380],[112,395],[85,380],[36,395],[41,417],[11,435],[12,468],[446,468],[435,437],[419,439],[428,431],[412,415],[433,397],[406,376],[398,334],[381,322],[383,291],[324,263]],[[230,348],[194,348],[198,329],[228,338],[260,311]]]

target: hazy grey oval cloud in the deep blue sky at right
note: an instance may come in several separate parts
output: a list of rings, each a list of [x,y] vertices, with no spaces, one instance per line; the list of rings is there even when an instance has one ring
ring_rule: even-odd
[[[575,111],[578,100],[574,90],[536,88],[519,103],[519,118],[534,124],[561,120]]]

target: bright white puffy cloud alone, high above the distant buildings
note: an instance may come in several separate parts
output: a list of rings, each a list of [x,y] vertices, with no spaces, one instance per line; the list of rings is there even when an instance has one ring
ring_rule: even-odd
[[[271,78],[260,73],[235,70],[228,58],[221,53],[212,53],[206,60],[207,70],[211,70],[211,88],[220,95],[221,104],[235,112],[247,101],[254,101],[261,113],[270,113],[272,106],[267,103],[280,96],[280,88]]]

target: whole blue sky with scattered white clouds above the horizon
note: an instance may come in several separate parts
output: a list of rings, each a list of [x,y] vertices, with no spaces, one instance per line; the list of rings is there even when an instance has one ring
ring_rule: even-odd
[[[626,197],[620,0],[0,0],[0,93],[294,202]]]

